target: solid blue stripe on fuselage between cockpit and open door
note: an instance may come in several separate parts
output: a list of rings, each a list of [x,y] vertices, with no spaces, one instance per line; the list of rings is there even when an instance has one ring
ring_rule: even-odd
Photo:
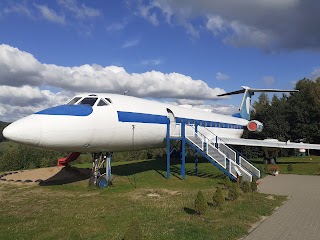
[[[157,123],[157,124],[169,123],[169,118],[167,116],[147,114],[147,113],[135,113],[135,112],[118,111],[118,119],[120,122]]]

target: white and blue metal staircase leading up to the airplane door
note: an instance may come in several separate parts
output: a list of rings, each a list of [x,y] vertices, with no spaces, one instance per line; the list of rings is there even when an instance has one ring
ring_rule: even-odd
[[[187,144],[232,180],[236,180],[238,176],[242,176],[244,181],[249,182],[252,181],[253,176],[260,178],[259,169],[206,127],[181,123],[176,125],[174,133],[170,130],[168,133],[171,140],[178,139],[182,142],[182,175],[185,169],[184,145]]]

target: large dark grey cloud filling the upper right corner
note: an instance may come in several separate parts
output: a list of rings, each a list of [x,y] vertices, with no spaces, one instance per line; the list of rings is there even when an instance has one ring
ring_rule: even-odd
[[[144,6],[167,23],[183,26],[188,34],[197,37],[199,30],[207,29],[236,47],[320,49],[319,1],[153,0]]]

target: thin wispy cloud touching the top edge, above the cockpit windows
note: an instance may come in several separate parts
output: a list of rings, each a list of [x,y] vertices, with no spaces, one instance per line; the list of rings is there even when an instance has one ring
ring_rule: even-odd
[[[99,17],[101,15],[100,10],[87,7],[84,3],[79,5],[75,0],[58,0],[58,4],[72,12],[76,18],[85,19]]]

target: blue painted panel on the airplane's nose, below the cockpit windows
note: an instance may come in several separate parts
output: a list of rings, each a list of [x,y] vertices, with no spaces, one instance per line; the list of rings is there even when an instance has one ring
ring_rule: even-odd
[[[35,114],[45,115],[67,115],[67,116],[89,116],[92,113],[92,107],[88,105],[60,105],[47,108]]]

